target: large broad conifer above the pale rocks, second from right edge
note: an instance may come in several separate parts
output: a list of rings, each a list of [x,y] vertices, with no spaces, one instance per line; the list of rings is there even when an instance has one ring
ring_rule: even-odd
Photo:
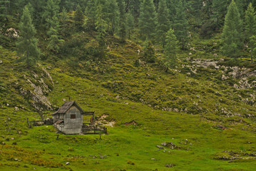
[[[242,21],[240,14],[232,0],[230,6],[227,9],[227,15],[225,16],[225,24],[222,31],[222,52],[230,57],[236,57],[237,51],[241,47],[241,31]]]

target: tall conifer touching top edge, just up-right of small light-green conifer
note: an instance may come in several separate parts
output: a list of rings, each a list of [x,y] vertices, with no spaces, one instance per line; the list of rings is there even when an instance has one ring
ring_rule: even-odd
[[[175,36],[182,45],[182,49],[185,49],[185,43],[188,41],[188,20],[183,1],[177,1],[173,28]]]

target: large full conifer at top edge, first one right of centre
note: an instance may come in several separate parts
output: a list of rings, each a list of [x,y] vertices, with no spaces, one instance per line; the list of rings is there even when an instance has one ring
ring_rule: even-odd
[[[155,39],[155,26],[157,26],[157,19],[153,0],[143,0],[140,5],[138,26],[140,35],[142,35],[144,39]]]

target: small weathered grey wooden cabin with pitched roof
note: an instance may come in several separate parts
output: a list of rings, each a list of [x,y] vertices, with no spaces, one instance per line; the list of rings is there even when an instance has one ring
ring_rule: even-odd
[[[75,101],[67,101],[53,113],[53,125],[64,134],[79,134],[83,127],[83,110]]]

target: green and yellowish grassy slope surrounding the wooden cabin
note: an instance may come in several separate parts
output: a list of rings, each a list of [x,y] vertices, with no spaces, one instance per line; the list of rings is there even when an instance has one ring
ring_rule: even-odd
[[[214,158],[229,156],[223,151],[231,150],[240,152],[239,156],[246,152],[255,153],[255,119],[227,118],[215,112],[215,108],[227,108],[241,115],[254,115],[255,106],[235,97],[236,94],[246,97],[247,93],[255,91],[245,92],[227,86],[217,79],[219,73],[213,68],[188,76],[186,68],[178,68],[180,73],[171,74],[164,73],[163,68],[155,64],[136,67],[135,61],[141,58],[138,48],[131,42],[124,46],[113,43],[109,57],[95,67],[72,58],[55,64],[41,63],[53,77],[54,88],[48,94],[53,105],[62,105],[62,99],[69,95],[84,110],[95,110],[96,115],[109,115],[108,120],[116,121],[116,127],[109,128],[109,135],[103,135],[102,140],[98,135],[61,135],[56,140],[56,130],[52,126],[26,128],[26,118],[39,119],[39,116],[30,112],[29,102],[19,95],[19,87],[13,86],[17,80],[24,86],[27,84],[19,72],[22,68],[14,62],[15,54],[1,49],[1,54],[6,54],[1,56],[4,59],[2,85],[9,91],[1,93],[0,131],[4,137],[0,137],[0,142],[4,141],[6,145],[0,146],[0,169],[254,170],[254,159],[228,162]],[[185,57],[186,54],[180,54],[181,62],[190,65]],[[27,75],[31,74],[27,72]],[[217,91],[220,95],[216,95]],[[6,106],[6,103],[11,105]],[[17,105],[23,105],[25,110],[14,110]],[[162,110],[167,107],[188,108],[198,114]],[[131,120],[139,125],[123,125]],[[225,126],[227,130],[218,129],[216,125]],[[7,141],[6,138],[14,140]],[[158,150],[155,147],[165,141],[173,142],[181,149],[165,147],[166,150]],[[13,142],[17,145],[12,145]],[[71,165],[65,165],[66,162]],[[165,167],[170,163],[175,167]]]

